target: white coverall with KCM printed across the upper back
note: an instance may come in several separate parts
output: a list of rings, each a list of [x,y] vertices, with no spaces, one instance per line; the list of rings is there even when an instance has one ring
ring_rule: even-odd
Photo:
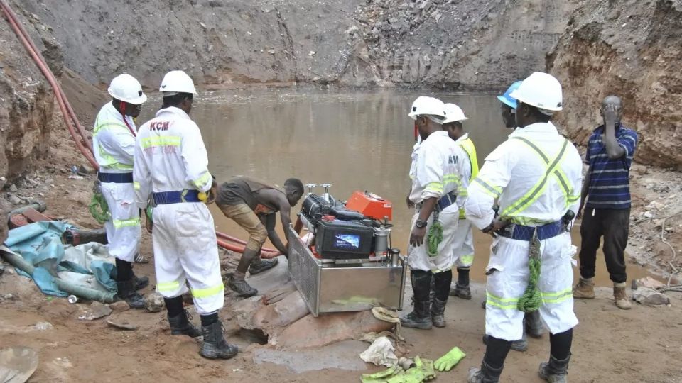
[[[147,206],[151,193],[208,191],[212,176],[196,123],[182,109],[161,109],[140,127],[135,145],[135,195]],[[153,209],[153,249],[156,291],[166,298],[187,292],[190,284],[200,315],[224,304],[224,286],[213,217],[201,202],[160,204]]]

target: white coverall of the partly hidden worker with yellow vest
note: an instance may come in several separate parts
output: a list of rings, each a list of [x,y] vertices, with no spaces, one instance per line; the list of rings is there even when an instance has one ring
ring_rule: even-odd
[[[469,138],[469,133],[465,133],[462,137],[455,141],[460,145],[462,141]],[[455,257],[455,265],[457,267],[471,267],[474,262],[474,233],[471,230],[471,222],[464,217],[464,204],[467,201],[467,189],[469,187],[469,180],[471,179],[472,165],[469,155],[464,150],[464,164],[462,168],[462,186],[457,195],[457,206],[460,211],[459,221],[457,223],[457,231],[455,231],[455,239],[453,240],[453,256]]]

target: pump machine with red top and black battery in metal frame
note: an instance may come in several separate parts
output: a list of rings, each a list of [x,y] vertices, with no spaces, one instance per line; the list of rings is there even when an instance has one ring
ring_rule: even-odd
[[[296,227],[289,228],[288,268],[314,316],[402,309],[406,264],[391,248],[391,201],[355,191],[346,202],[308,184]],[[301,229],[308,233],[301,235]],[[296,240],[299,238],[300,240]]]

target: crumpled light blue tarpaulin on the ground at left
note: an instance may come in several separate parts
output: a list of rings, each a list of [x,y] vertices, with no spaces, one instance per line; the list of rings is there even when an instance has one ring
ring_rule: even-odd
[[[98,243],[63,245],[62,235],[70,227],[60,221],[42,221],[9,231],[5,245],[36,267],[33,275],[17,271],[31,277],[40,291],[48,295],[67,296],[58,289],[55,276],[65,279],[72,273],[92,275],[99,284],[94,288],[116,292],[116,282],[112,279],[116,266],[106,248]]]

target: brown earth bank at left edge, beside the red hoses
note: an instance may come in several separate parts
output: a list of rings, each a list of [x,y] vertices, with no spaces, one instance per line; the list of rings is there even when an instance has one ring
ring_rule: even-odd
[[[37,16],[19,14],[50,68],[63,69],[61,50]],[[4,17],[0,21],[0,176],[13,178],[49,150],[54,94]],[[4,179],[0,187],[4,186]]]

